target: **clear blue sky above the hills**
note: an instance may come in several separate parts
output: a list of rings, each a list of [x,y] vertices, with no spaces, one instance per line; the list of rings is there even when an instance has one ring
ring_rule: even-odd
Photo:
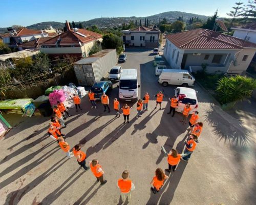
[[[29,26],[40,22],[74,22],[98,17],[149,16],[183,11],[226,17],[239,0],[12,0],[1,3],[0,27]],[[247,0],[241,0],[247,2]]]

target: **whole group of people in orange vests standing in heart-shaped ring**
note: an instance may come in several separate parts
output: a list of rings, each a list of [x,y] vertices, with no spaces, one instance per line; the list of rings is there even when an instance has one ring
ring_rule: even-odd
[[[96,99],[94,97],[94,93],[90,90],[89,93],[89,100],[91,101],[92,107],[91,109],[96,109]],[[159,105],[159,110],[161,110],[161,104],[164,98],[163,93],[160,91],[159,93],[157,93],[155,95],[156,97],[156,107]],[[144,94],[143,99],[138,99],[136,107],[137,107],[137,117],[142,116],[142,110],[146,111],[148,110],[148,101],[150,99],[150,95],[146,92]],[[80,108],[80,102],[81,99],[74,94],[73,97],[73,101],[76,107],[76,112],[78,112],[78,108],[80,110],[82,110]],[[179,105],[179,100],[177,98],[177,96],[173,96],[172,98],[169,98],[170,101],[170,109],[169,112],[167,114],[172,114],[172,117],[174,117],[175,115],[175,109],[176,107]],[[108,111],[110,112],[110,100],[109,97],[103,93],[103,95],[101,96],[101,104],[104,107],[104,112],[106,111],[106,109],[108,108]],[[128,106],[127,104],[124,104],[124,106],[122,108],[120,108],[120,103],[117,100],[117,98],[114,98],[113,101],[113,109],[116,112],[116,116],[115,117],[120,117],[120,110],[122,110],[123,112],[123,117],[124,117],[124,123],[126,122],[127,119],[127,123],[129,123],[129,116],[130,116],[130,110],[132,109],[132,107]],[[73,148],[73,154],[72,152],[70,152],[70,145],[68,144],[67,141],[65,141],[65,134],[61,133],[61,129],[66,127],[65,121],[64,119],[66,119],[68,116],[70,116],[69,112],[66,110],[65,106],[60,103],[58,101],[58,104],[56,106],[54,106],[54,113],[55,116],[53,116],[51,118],[51,122],[50,122],[50,126],[49,126],[49,130],[48,130],[48,134],[51,138],[53,138],[54,140],[56,140],[60,146],[60,148],[63,150],[63,152],[66,153],[66,155],[71,158],[73,156],[76,157],[76,160],[78,162],[78,164],[80,165],[81,168],[83,168],[84,170],[89,170],[91,169],[93,175],[97,178],[97,181],[100,181],[101,185],[104,185],[107,181],[104,180],[103,176],[104,176],[104,171],[102,170],[102,167],[99,164],[99,161],[97,159],[93,159],[92,161],[89,162],[89,167],[86,166],[86,158],[87,155],[86,153],[84,153],[83,151],[81,151],[81,146],[80,145],[75,145]],[[183,122],[183,125],[186,124],[187,122],[187,118],[189,115],[191,108],[189,104],[186,104],[183,111],[182,111],[182,115],[183,118],[181,120],[181,122]],[[66,117],[65,114],[67,114],[68,116]],[[198,121],[199,120],[199,116],[198,116],[198,112],[194,112],[190,119],[189,119],[189,137],[185,142],[185,151],[183,154],[179,154],[177,152],[176,149],[172,149],[170,151],[169,154],[167,154],[167,162],[168,162],[168,169],[165,169],[166,172],[175,172],[176,167],[178,165],[178,163],[180,162],[180,160],[184,160],[187,161],[191,154],[194,152],[194,150],[196,149],[197,143],[198,141],[198,137],[200,136],[201,132],[202,132],[202,127],[203,127],[203,123]],[[127,200],[131,201],[131,191],[133,191],[135,189],[135,186],[132,182],[132,180],[129,178],[130,173],[128,170],[124,170],[122,173],[122,178],[118,179],[117,181],[117,186],[120,189],[121,192],[121,200],[124,201],[125,197],[127,196]],[[153,186],[151,188],[152,192],[154,194],[156,194],[156,192],[159,192],[159,190],[161,189],[161,187],[164,184],[164,180],[167,179],[168,176],[166,174],[164,174],[164,171],[161,168],[157,168],[157,170],[155,171],[155,176],[153,177],[152,181],[151,181],[151,185]]]

